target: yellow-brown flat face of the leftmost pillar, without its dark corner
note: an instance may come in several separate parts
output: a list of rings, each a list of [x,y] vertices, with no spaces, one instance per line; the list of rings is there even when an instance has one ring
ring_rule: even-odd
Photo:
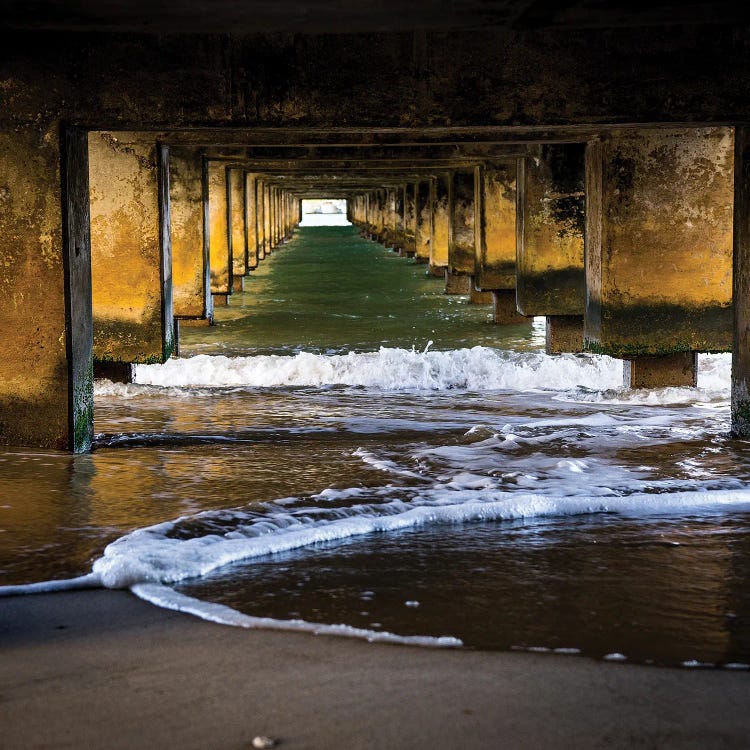
[[[0,444],[65,449],[68,368],[58,127],[0,132]]]

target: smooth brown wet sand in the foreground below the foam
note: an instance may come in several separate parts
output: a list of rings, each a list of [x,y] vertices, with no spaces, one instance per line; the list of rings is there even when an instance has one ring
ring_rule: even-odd
[[[0,747],[746,747],[750,674],[213,625],[126,592],[0,599]]]

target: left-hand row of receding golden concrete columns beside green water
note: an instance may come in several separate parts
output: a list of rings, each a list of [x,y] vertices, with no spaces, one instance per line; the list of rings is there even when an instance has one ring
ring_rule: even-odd
[[[88,173],[97,375],[165,361],[299,223],[262,175],[144,133],[89,133]]]

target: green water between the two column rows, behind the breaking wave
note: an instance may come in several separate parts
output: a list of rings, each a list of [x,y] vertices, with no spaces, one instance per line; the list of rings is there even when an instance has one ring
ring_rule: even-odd
[[[362,239],[356,227],[300,228],[217,307],[210,330],[184,328],[183,354],[333,354],[379,347],[538,349],[531,324],[498,328],[490,305],[444,294],[427,267]]]

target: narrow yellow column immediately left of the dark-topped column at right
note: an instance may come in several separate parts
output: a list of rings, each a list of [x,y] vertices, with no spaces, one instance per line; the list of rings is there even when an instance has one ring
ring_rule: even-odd
[[[484,164],[474,284],[479,289],[516,288],[517,160]]]

